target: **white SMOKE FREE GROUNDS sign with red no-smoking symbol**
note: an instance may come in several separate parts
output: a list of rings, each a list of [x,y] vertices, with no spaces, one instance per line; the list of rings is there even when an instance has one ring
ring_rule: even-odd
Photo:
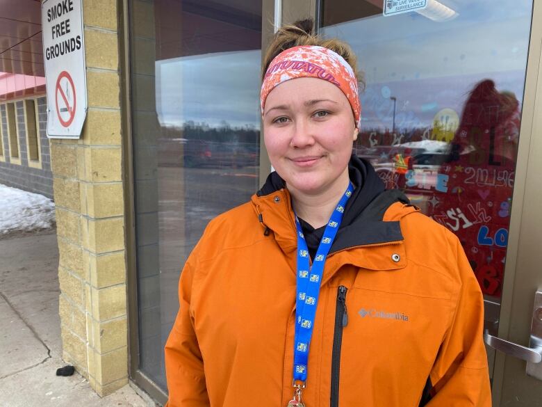
[[[79,138],[87,115],[82,0],[44,0],[47,136]]]

